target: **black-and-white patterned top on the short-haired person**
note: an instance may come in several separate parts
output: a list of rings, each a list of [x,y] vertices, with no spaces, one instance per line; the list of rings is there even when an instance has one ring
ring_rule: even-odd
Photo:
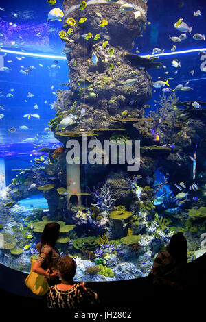
[[[58,285],[51,286],[47,293],[47,306],[54,309],[78,310],[97,303],[98,296],[84,282],[78,282],[70,290],[60,290]]]

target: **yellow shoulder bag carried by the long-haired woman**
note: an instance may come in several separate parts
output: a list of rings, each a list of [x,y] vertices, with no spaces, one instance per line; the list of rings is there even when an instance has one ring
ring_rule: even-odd
[[[34,260],[34,258],[32,257],[30,258],[30,260],[31,269],[29,275],[25,279],[25,284],[27,288],[30,288],[30,290],[32,290],[32,293],[34,293],[35,295],[45,295],[49,290],[49,284],[47,280],[45,280],[45,277],[43,275],[39,275],[36,272],[32,272],[32,267],[36,260]]]

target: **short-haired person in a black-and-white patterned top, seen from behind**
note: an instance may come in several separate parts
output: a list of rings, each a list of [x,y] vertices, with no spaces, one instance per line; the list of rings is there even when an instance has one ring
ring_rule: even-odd
[[[73,282],[76,262],[69,256],[58,260],[61,283],[51,286],[47,293],[47,307],[52,309],[79,310],[98,303],[98,295],[84,282]]]

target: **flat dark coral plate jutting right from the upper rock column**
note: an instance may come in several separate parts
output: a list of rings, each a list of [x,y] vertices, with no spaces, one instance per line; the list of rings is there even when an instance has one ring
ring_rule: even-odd
[[[127,53],[124,57],[130,61],[133,66],[144,66],[145,69],[158,69],[163,66],[161,62],[155,62],[157,57],[154,58],[144,58],[135,53]]]

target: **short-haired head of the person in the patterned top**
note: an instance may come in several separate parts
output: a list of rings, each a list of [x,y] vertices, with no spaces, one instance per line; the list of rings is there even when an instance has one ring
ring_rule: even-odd
[[[73,277],[76,274],[76,262],[73,260],[73,258],[69,256],[61,257],[58,260],[57,267],[62,280],[65,282],[70,282],[73,280]]]

